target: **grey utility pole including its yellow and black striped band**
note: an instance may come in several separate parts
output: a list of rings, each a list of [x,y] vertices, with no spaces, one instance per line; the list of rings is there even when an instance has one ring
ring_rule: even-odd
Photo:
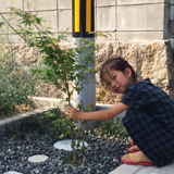
[[[72,0],[72,28],[73,28],[73,46],[80,48],[82,40],[86,38],[89,41],[95,42],[95,36],[89,34],[95,30],[95,4],[94,0]],[[85,42],[83,44],[85,46]],[[90,46],[91,47],[91,46]],[[89,50],[88,48],[87,50]],[[77,55],[79,64],[85,64],[88,67],[95,69],[95,52],[91,54],[94,63],[84,62],[84,55],[87,51],[82,50],[82,53]],[[84,108],[88,109],[88,103],[94,104],[96,110],[96,78],[94,73],[86,73],[86,79],[82,82],[83,91],[77,94],[74,91],[73,99],[75,105],[80,101],[84,103]]]

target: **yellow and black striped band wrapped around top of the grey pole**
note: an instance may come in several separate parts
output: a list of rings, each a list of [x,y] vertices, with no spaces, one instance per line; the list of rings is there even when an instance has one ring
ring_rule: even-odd
[[[95,0],[72,0],[73,37],[95,37]]]

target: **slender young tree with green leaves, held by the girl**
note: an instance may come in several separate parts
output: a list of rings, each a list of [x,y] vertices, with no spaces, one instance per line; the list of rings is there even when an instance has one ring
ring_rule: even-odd
[[[69,30],[61,34],[55,34],[45,29],[42,26],[42,18],[37,17],[29,11],[23,11],[16,8],[10,8],[12,18],[7,20],[2,13],[0,15],[10,28],[25,40],[28,47],[36,47],[38,52],[42,55],[41,66],[34,67],[33,74],[39,77],[42,82],[54,85],[57,89],[61,89],[66,94],[65,101],[71,104],[71,96],[73,91],[82,91],[82,82],[86,79],[86,73],[96,73],[95,69],[88,67],[89,63],[94,63],[92,53],[98,48],[92,41],[80,39],[79,47],[62,49],[61,40],[65,40]],[[18,24],[16,28],[11,24],[11,21],[17,17]],[[1,23],[0,23],[1,25]],[[57,36],[58,35],[58,36]],[[101,36],[97,34],[98,36]],[[57,36],[57,37],[55,37]],[[77,55],[85,51],[84,62],[79,63]],[[75,82],[72,85],[72,82]],[[76,121],[70,120],[65,113],[61,113],[64,122],[70,124],[70,136],[72,138],[73,161],[76,162],[76,149],[74,140],[74,125]],[[57,122],[59,123],[59,122]]]

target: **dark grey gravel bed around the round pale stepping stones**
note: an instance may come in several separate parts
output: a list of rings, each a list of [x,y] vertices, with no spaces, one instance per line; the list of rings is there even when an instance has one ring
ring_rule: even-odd
[[[91,138],[88,134],[84,140],[88,147],[78,150],[77,165],[64,164],[64,159],[70,153],[55,149],[53,144],[58,139],[48,135],[39,135],[24,139],[3,137],[0,140],[0,174],[16,171],[23,174],[109,174],[121,165],[120,158],[127,153],[128,139],[115,137]],[[28,158],[35,154],[48,156],[42,163],[30,163]]]

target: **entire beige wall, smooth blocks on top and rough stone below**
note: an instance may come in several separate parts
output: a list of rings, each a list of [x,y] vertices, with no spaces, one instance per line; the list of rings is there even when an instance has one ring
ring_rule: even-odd
[[[32,13],[47,21],[45,27],[58,35],[67,27],[72,30],[71,0],[0,0],[0,13],[8,17],[9,7],[28,10],[28,4]],[[97,39],[100,50],[96,52],[96,66],[109,58],[123,57],[139,79],[149,77],[174,99],[174,0],[95,0],[95,21],[96,30],[110,34]],[[3,29],[12,42],[18,44],[13,50],[16,63],[24,69],[29,69],[27,61],[37,63],[37,50],[28,49],[7,25]],[[71,35],[64,45],[70,44]],[[97,74],[97,96],[100,88]],[[63,97],[49,86],[45,86],[42,96]],[[109,92],[101,102],[113,104],[121,97]]]

